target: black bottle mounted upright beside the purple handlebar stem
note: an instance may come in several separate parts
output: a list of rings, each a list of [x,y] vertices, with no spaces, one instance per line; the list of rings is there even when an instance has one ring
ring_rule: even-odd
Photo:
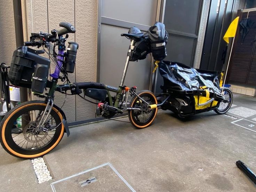
[[[65,61],[63,65],[66,72],[68,73],[74,73],[75,59],[77,58],[77,50],[78,50],[78,43],[69,42],[69,46],[67,47],[67,53],[66,53]]]

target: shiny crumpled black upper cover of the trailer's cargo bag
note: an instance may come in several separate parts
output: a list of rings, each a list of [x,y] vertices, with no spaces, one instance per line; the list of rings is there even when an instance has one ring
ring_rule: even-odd
[[[197,90],[201,86],[212,88],[215,93],[221,95],[219,87],[220,71],[207,71],[194,69],[178,62],[161,61],[159,72],[164,80],[164,86],[178,90]]]

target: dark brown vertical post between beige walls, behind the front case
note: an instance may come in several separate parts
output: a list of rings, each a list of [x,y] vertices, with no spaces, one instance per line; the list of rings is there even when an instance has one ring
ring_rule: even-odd
[[[21,0],[13,0],[13,12],[14,12],[16,47],[21,47],[24,45]],[[27,88],[20,87],[19,91],[21,94],[21,103],[26,102]]]

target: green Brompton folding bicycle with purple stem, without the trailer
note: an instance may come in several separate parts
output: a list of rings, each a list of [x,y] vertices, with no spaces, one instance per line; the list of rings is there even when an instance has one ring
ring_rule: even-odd
[[[129,88],[123,85],[131,54],[136,48],[135,43],[146,40],[144,33],[136,28],[134,32],[121,34],[130,39],[130,46],[120,85],[115,87],[97,82],[69,81],[67,74],[74,72],[78,44],[69,42],[66,53],[64,51],[67,33],[75,33],[75,27],[64,22],[59,26],[64,28],[59,31],[52,30],[51,34],[31,33],[30,42],[25,42],[23,47],[14,51],[8,76],[10,82],[13,85],[31,88],[34,94],[45,98],[45,101],[28,101],[14,107],[1,121],[1,145],[15,157],[31,159],[45,155],[57,146],[64,132],[69,135],[65,113],[61,107],[54,104],[55,91],[67,94],[66,92],[70,90],[72,95],[79,95],[89,101],[80,95],[83,89],[84,95],[100,101],[99,103],[89,101],[98,105],[98,114],[111,118],[115,114],[128,111],[129,120],[136,128],[151,125],[157,115],[158,109],[150,107],[157,104],[157,98],[151,91],[142,90],[136,93],[136,86]],[[52,53],[50,53],[50,43],[54,43]],[[43,50],[34,50],[28,46],[42,47]],[[58,53],[55,52],[55,47],[58,48]],[[39,56],[41,53],[48,53],[56,65],[54,73],[50,74],[50,81],[48,80],[50,60]],[[58,80],[67,83],[57,84]],[[46,87],[49,91],[45,95],[43,91]],[[110,91],[116,93],[115,97],[111,96]],[[128,95],[132,96],[130,102],[127,101]],[[17,123],[17,121],[22,122]],[[18,131],[14,132],[13,130],[16,130],[14,127],[17,128],[17,125],[21,124],[22,127],[18,127]]]

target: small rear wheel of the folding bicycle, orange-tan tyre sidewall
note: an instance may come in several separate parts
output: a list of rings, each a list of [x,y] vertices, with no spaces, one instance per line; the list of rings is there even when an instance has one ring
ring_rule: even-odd
[[[149,90],[142,90],[137,94],[141,97],[145,102],[149,103],[149,105],[157,104],[157,98],[155,95]],[[149,109],[147,104],[135,95],[130,101],[130,107],[142,109],[141,111],[138,110],[131,110],[128,113],[129,120],[131,124],[137,128],[142,129],[145,128],[154,121],[157,115],[157,108]]]

